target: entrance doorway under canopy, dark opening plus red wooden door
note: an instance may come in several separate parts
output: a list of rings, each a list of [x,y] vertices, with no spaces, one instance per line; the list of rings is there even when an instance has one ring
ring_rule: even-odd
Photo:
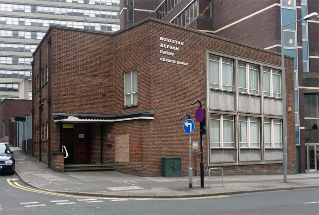
[[[89,164],[90,141],[88,124],[63,124],[62,146],[68,152],[64,164]]]

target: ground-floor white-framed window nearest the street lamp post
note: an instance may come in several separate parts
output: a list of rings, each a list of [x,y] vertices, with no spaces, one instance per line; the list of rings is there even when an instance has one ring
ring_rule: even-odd
[[[282,120],[265,119],[264,120],[264,141],[265,148],[281,148],[282,141]]]

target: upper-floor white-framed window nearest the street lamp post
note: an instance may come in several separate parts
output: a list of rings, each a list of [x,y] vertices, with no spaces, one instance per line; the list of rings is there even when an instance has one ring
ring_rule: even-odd
[[[281,98],[281,73],[279,70],[264,67],[264,96]]]

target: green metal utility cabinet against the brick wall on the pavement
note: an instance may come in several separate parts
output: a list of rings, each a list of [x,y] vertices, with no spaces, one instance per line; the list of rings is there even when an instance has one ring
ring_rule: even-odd
[[[163,157],[163,177],[181,177],[181,157]]]

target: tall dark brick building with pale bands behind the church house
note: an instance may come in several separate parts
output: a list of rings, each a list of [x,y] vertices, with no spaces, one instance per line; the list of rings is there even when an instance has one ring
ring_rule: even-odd
[[[151,16],[281,52],[281,24],[319,12],[319,4],[317,0],[121,0],[120,11],[121,28]],[[318,19],[298,21],[284,29],[285,54],[295,58],[293,153],[301,173],[319,171],[318,38]]]

